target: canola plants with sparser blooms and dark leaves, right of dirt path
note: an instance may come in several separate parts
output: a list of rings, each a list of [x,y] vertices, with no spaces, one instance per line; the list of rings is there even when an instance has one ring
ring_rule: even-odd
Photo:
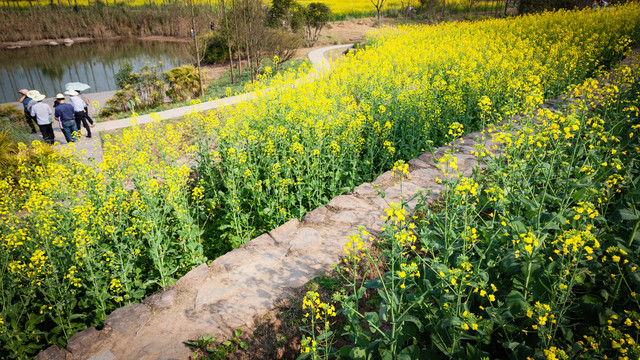
[[[391,203],[410,223],[336,270],[345,325],[303,325],[329,339],[311,358],[637,359],[640,60],[600,75],[466,138],[482,171],[452,170],[435,206]]]

